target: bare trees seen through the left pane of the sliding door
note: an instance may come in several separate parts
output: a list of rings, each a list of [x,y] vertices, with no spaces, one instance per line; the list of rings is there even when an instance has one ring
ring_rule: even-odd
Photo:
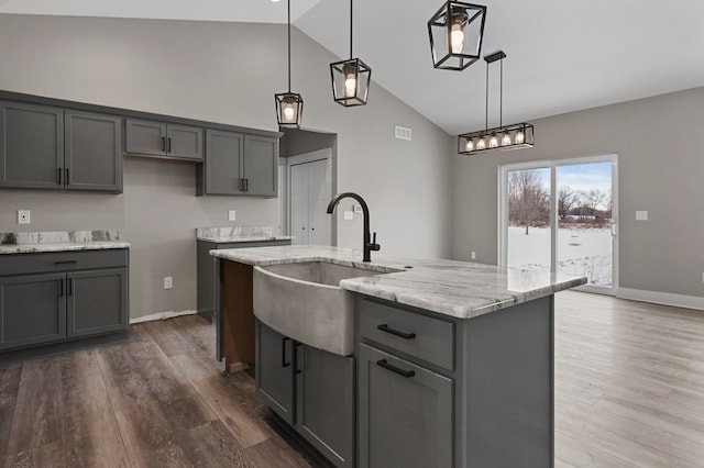
[[[508,218],[526,227],[550,224],[550,193],[537,169],[514,170],[508,177]]]

